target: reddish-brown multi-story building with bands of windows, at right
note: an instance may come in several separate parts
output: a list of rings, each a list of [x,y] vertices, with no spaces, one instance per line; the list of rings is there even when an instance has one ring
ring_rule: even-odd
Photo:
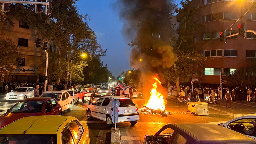
[[[194,33],[194,43],[202,55],[207,57],[202,66],[199,83],[219,84],[220,74],[227,76],[232,71],[246,65],[246,59],[256,57],[256,1],[247,0],[192,0],[191,7],[199,11],[195,14],[195,25],[203,27]],[[238,25],[245,23],[244,36],[226,38],[238,33]],[[224,84],[226,84],[224,78]]]

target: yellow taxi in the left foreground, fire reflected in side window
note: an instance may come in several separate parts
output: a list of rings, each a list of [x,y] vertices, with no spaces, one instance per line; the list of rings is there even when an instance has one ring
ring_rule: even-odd
[[[89,144],[89,129],[71,116],[31,116],[0,129],[0,144]]]

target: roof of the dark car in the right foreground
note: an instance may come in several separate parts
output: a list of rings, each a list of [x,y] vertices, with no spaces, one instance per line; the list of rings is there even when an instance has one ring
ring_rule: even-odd
[[[173,125],[183,131],[186,131],[189,135],[199,139],[201,143],[256,143],[254,139],[246,135],[214,124],[172,123],[167,125]]]

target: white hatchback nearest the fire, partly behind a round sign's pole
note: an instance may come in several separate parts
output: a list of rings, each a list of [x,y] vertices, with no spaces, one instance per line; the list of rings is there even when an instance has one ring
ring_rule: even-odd
[[[124,96],[105,96],[98,99],[95,103],[87,106],[88,119],[97,118],[107,122],[107,126],[111,127],[114,123],[113,108],[111,103],[113,100],[119,100],[118,122],[129,121],[135,125],[139,118],[138,108],[130,98]]]

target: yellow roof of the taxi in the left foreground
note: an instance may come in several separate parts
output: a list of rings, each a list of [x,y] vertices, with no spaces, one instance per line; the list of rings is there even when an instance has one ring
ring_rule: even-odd
[[[59,127],[70,116],[31,116],[18,119],[0,129],[0,134],[57,134]]]

